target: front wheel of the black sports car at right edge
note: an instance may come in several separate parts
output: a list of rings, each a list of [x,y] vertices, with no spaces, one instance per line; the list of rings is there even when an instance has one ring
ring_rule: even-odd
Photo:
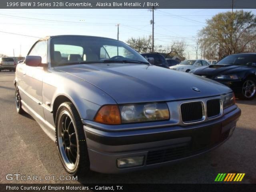
[[[241,98],[252,100],[256,95],[256,79],[253,77],[246,78],[242,85]]]

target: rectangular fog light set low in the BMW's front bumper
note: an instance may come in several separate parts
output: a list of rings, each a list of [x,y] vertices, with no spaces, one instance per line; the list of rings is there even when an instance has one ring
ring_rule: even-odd
[[[144,163],[144,156],[126,157],[126,158],[117,159],[118,168],[142,166],[143,163]]]

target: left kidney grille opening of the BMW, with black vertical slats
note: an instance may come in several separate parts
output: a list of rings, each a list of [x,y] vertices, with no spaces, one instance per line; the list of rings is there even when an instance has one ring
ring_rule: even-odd
[[[185,123],[199,121],[203,117],[202,102],[184,103],[180,106],[182,121]]]

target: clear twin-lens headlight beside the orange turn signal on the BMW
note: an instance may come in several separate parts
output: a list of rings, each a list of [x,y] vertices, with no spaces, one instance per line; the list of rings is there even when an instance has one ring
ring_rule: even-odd
[[[168,120],[166,103],[150,103],[119,106],[123,123]]]

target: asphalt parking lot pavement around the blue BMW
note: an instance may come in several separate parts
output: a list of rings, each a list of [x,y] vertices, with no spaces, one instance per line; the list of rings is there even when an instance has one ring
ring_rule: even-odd
[[[218,173],[245,173],[242,183],[256,183],[256,99],[237,100],[242,116],[233,136],[216,150],[190,160],[121,175],[91,172],[77,181],[6,180],[6,174],[68,175],[54,142],[32,117],[16,113],[13,80],[13,72],[0,72],[1,183],[214,183]]]

